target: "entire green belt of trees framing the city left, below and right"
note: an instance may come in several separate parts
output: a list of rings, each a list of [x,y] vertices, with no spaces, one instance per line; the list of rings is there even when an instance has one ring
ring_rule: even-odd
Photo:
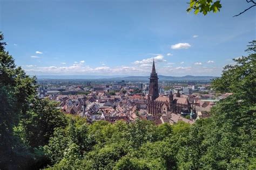
[[[1,169],[255,169],[256,41],[214,79],[233,93],[193,125],[134,123],[87,125],[37,98],[29,77],[5,51],[0,36]]]

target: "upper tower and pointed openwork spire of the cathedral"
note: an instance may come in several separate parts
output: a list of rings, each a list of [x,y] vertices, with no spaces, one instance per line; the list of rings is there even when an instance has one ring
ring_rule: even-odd
[[[154,101],[159,96],[158,93],[158,76],[156,73],[156,68],[154,67],[154,60],[152,66],[152,72],[150,74],[150,86],[149,86],[149,100]]]

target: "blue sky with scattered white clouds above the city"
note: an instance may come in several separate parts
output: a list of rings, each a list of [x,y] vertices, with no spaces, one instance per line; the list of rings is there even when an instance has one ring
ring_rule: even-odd
[[[256,8],[221,1],[187,13],[189,0],[0,1],[0,30],[30,75],[220,76],[255,40]]]

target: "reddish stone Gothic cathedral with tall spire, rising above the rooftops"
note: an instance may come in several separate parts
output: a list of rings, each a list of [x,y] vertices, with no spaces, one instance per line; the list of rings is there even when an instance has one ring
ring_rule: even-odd
[[[147,111],[149,114],[160,115],[167,114],[167,112],[176,114],[180,114],[181,112],[190,112],[190,103],[187,98],[181,97],[179,90],[175,95],[173,95],[171,91],[168,96],[159,96],[158,76],[156,67],[154,66],[154,60],[149,79],[149,95],[147,96]]]

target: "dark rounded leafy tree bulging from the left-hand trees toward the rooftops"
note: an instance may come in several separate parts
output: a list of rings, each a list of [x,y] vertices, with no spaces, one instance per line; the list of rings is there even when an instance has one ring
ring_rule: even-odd
[[[64,113],[56,107],[57,103],[49,99],[35,98],[30,110],[22,116],[19,126],[24,130],[31,147],[48,144],[55,128],[65,128],[67,125]]]

